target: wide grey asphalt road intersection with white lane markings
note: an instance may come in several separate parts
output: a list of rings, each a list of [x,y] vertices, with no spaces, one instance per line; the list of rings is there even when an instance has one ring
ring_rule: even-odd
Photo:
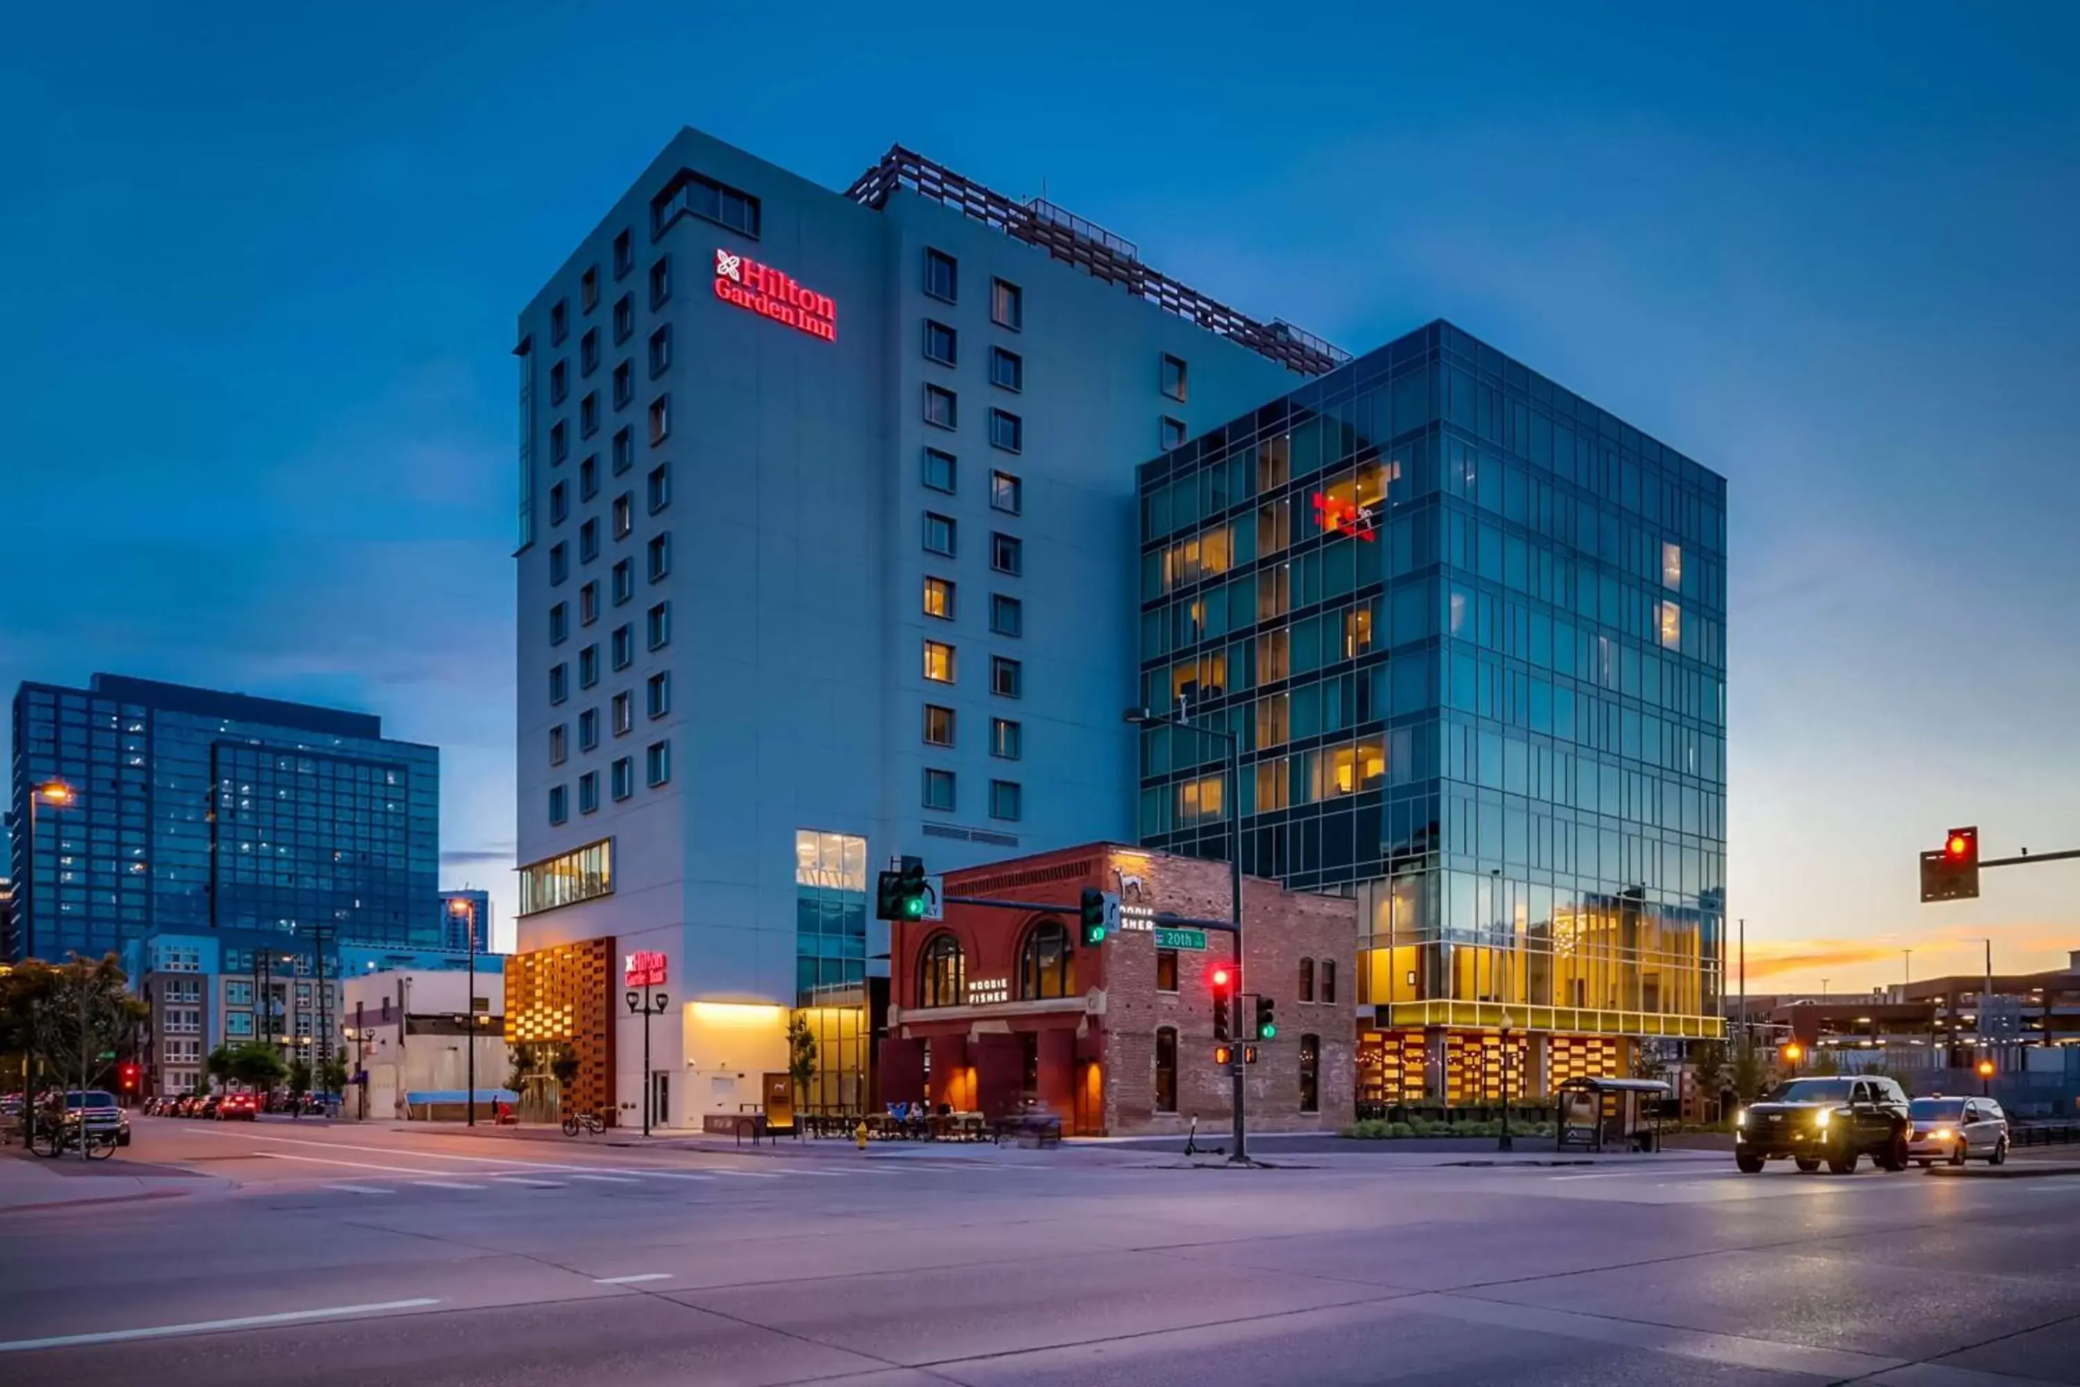
[[[152,1119],[127,1156],[193,1192],[0,1216],[10,1387],[2080,1383],[2080,1177]]]

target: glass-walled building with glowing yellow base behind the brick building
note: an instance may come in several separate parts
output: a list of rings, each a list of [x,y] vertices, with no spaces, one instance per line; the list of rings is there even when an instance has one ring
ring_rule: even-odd
[[[1140,838],[1360,898],[1360,1104],[1720,1033],[1726,482],[1448,322],[1140,470]]]

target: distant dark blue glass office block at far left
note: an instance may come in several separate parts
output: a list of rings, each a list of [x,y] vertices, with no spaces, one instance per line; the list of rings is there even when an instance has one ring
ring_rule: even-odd
[[[62,803],[35,794],[50,784]],[[6,957],[218,930],[439,948],[439,751],[366,713],[110,674],[23,684]]]

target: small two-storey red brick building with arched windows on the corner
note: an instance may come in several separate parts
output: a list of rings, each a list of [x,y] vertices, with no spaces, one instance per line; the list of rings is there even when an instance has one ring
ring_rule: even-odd
[[[1086,886],[1119,892],[1129,919],[1080,942]],[[1231,938],[1159,950],[1140,911],[1229,917],[1227,865],[1107,842],[946,875],[948,896],[1034,909],[946,907],[944,921],[892,925],[882,1096],[1000,1117],[1028,1096],[1073,1135],[1219,1133],[1229,1077],[1213,1063],[1208,971]],[[1271,996],[1275,1040],[1248,1067],[1250,1127],[1333,1131],[1354,1108],[1356,902],[1244,880],[1242,990]],[[1067,911],[1048,911],[1057,905]]]

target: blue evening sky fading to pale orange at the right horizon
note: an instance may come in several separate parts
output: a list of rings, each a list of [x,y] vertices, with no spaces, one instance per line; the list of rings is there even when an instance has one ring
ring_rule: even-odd
[[[830,187],[903,141],[1350,349],[1450,316],[1724,472],[1756,986],[2063,963],[2080,865],[1924,909],[1914,855],[2080,846],[2080,12],[1687,8],[23,10],[0,690],[376,711],[510,936],[516,312],[680,125]]]

